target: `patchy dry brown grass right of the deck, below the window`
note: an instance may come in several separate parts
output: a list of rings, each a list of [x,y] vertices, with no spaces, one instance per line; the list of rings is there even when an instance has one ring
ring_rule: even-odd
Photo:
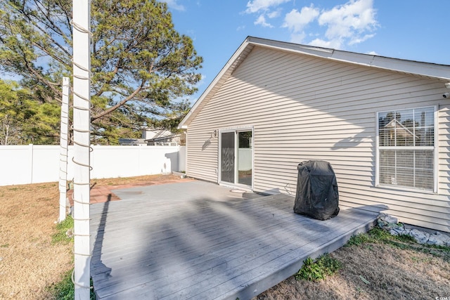
[[[380,232],[375,229],[375,235]],[[326,280],[311,282],[291,277],[257,299],[435,299],[450,296],[449,248],[427,247],[385,233],[381,235],[330,254],[342,263],[342,268]]]

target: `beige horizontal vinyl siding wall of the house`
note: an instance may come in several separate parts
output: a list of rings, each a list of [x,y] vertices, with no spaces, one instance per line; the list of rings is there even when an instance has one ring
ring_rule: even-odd
[[[188,125],[188,176],[217,182],[221,129],[254,129],[254,191],[295,195],[297,164],[322,159],[340,207],[450,232],[450,102],[444,84],[256,46]],[[375,186],[377,112],[437,106],[438,193]]]

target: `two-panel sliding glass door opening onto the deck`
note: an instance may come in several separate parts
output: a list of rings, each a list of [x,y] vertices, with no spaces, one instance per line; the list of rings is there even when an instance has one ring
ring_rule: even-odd
[[[251,129],[221,131],[220,181],[252,186],[253,132]]]

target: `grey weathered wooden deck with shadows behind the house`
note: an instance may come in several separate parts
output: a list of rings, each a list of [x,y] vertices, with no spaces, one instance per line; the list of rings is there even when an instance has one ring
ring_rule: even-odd
[[[91,205],[98,299],[250,299],[376,219],[348,209],[318,221],[294,214],[293,197],[201,181],[114,193],[123,200]]]

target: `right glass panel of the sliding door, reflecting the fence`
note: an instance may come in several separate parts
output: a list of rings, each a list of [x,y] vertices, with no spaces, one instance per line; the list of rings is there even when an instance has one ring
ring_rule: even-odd
[[[238,141],[238,183],[252,185],[252,131],[240,131]]]

